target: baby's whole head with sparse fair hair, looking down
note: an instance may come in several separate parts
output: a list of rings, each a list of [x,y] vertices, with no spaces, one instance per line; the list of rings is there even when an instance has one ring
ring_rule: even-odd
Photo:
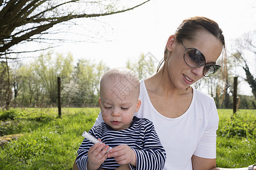
[[[139,78],[126,68],[107,71],[100,82],[100,107],[102,118],[114,130],[130,127],[135,112],[141,106]]]

